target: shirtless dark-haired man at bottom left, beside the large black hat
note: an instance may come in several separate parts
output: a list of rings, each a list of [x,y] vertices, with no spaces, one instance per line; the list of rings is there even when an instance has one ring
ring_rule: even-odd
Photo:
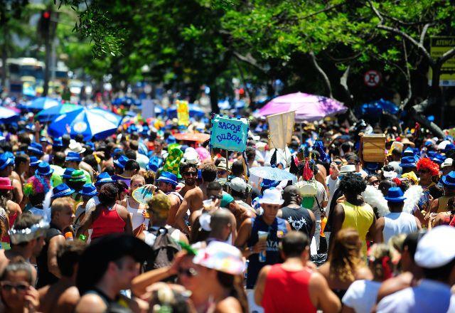
[[[77,240],[65,243],[58,249],[57,262],[62,277],[53,285],[38,290],[39,312],[73,312],[80,299],[76,287],[77,263],[84,252],[85,243]]]

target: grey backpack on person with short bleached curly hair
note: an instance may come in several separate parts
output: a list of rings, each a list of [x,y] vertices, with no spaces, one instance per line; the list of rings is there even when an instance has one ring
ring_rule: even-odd
[[[173,257],[181,250],[181,246],[171,238],[171,233],[176,228],[151,228],[149,233],[156,236],[152,253],[144,263],[144,271],[155,270],[172,264]]]

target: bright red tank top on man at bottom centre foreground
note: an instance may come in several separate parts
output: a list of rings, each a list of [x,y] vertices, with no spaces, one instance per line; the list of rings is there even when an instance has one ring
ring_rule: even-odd
[[[284,270],[281,264],[272,265],[262,297],[264,312],[316,312],[309,294],[310,277],[308,269],[294,272]]]

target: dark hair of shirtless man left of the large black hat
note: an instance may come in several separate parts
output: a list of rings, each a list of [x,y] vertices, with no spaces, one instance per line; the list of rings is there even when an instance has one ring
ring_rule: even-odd
[[[63,276],[73,276],[74,266],[79,262],[84,250],[85,243],[81,240],[69,241],[60,245],[57,251],[57,264]]]

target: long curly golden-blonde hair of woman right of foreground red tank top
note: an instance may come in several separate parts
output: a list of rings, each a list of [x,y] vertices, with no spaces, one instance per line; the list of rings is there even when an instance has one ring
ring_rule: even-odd
[[[345,228],[336,234],[329,256],[331,279],[338,278],[342,282],[355,280],[355,272],[365,266],[361,247],[360,237],[354,228]]]

